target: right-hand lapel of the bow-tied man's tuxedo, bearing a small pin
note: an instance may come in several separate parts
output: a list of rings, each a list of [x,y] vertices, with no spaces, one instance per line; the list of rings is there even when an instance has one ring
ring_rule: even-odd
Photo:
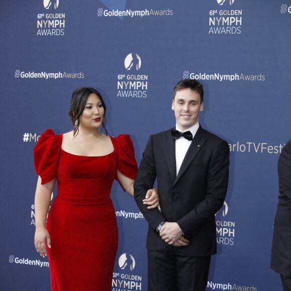
[[[194,160],[196,155],[199,153],[201,148],[203,147],[203,144],[205,143],[207,138],[204,137],[203,129],[201,125],[199,125],[199,128],[191,142],[191,145],[186,153],[186,156],[183,160],[183,163],[181,165],[181,168],[179,170],[179,173],[177,175],[177,178],[175,179],[174,185],[177,183],[177,181],[180,179],[180,177],[183,175],[183,173],[187,170],[190,163]],[[176,161],[176,159],[175,159]],[[173,185],[173,186],[174,186]]]

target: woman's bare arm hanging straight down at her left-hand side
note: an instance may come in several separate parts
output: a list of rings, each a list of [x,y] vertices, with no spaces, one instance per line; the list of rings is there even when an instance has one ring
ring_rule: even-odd
[[[41,184],[42,179],[39,176],[37,189],[35,193],[35,248],[41,256],[47,255],[46,241],[49,247],[51,247],[50,234],[46,228],[46,221],[48,210],[51,203],[51,195],[55,186],[56,179]]]

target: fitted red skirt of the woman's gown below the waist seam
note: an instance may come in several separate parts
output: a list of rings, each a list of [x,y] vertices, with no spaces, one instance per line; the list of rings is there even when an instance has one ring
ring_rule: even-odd
[[[118,231],[110,198],[100,202],[57,195],[47,229],[52,290],[111,290]]]

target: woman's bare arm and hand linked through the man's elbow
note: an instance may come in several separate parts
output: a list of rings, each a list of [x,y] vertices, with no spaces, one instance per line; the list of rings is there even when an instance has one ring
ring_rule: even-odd
[[[117,177],[124,190],[133,197],[133,183],[134,180],[124,176],[117,171]],[[143,204],[149,205],[148,209],[156,208],[159,206],[159,192],[156,188],[148,190],[143,200]]]

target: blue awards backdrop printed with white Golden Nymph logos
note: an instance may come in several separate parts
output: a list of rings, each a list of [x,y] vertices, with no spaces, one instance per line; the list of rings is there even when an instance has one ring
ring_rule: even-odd
[[[277,161],[291,138],[291,0],[4,0],[0,15],[1,290],[50,290],[34,247],[33,148],[47,128],[72,129],[72,92],[102,94],[109,135],[129,133],[139,164],[149,135],[175,126],[183,78],[203,83],[200,123],[230,148],[206,289],[281,289],[269,265]],[[145,291],[147,221],[117,182],[111,198],[112,291]]]

